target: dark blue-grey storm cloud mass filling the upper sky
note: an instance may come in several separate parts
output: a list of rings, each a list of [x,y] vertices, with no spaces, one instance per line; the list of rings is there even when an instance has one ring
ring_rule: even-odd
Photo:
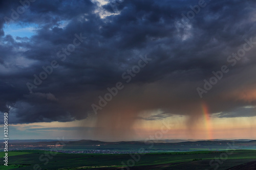
[[[3,32],[4,16],[9,17],[11,9],[20,4],[1,1],[0,111],[9,111],[16,117],[10,123],[86,118],[98,96],[105,94],[107,87],[124,82],[123,72],[136,65],[140,55],[147,54],[152,61],[102,109],[102,114],[113,119],[117,114],[129,114],[122,108],[134,112],[133,117],[149,109],[199,114],[201,99],[196,88],[203,86],[212,71],[227,64],[227,57],[237,52],[245,38],[256,36],[256,3],[211,1],[185,28],[177,30],[174,23],[191,10],[190,5],[197,4],[198,1],[124,1],[117,6],[117,14],[110,4],[99,8],[99,3],[91,1],[37,0],[12,22],[37,27],[35,35],[23,38]],[[99,9],[115,15],[101,18]],[[87,39],[61,61],[57,52],[67,48],[74,35],[80,33]],[[44,71],[42,66],[50,65],[52,60],[59,67],[33,89],[34,93],[29,93],[26,83],[33,83],[33,75],[38,76]],[[255,63],[252,48],[205,94],[211,113],[255,105],[256,96],[249,95],[255,85]],[[166,115],[159,116],[155,118]],[[102,123],[101,118],[99,122]]]

